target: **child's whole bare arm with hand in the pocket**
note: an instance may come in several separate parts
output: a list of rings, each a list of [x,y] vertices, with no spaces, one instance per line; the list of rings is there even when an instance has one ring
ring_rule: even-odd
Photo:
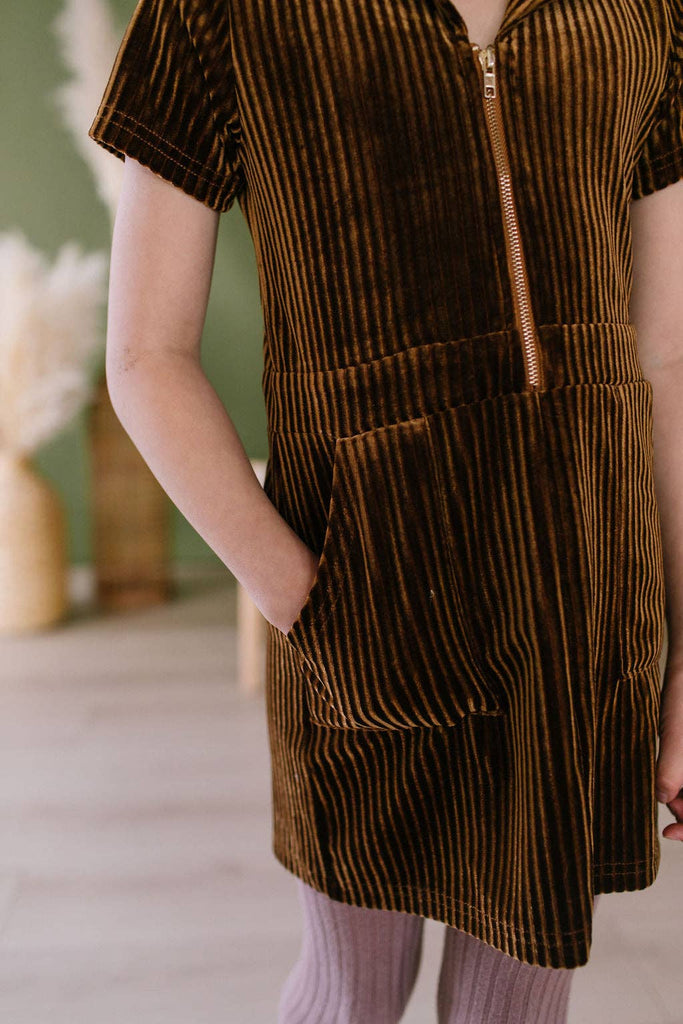
[[[112,243],[106,381],[186,519],[286,632],[317,559],[263,492],[200,346],[219,214],[126,157]]]

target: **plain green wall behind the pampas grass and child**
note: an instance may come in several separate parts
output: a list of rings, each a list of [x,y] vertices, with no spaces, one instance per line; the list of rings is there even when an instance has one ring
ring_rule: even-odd
[[[134,0],[109,2],[123,35]],[[0,33],[0,230],[23,230],[50,258],[68,240],[80,242],[86,251],[109,252],[111,244],[109,211],[97,199],[92,175],[51,98],[68,78],[52,30],[60,9],[57,0],[2,0]],[[102,344],[105,322],[102,308]],[[262,336],[254,247],[236,203],[220,218],[202,364],[247,453],[258,459],[267,455]],[[45,445],[35,462],[63,500],[71,560],[87,561],[91,547],[85,416]],[[171,516],[174,558],[220,564],[175,506]]]

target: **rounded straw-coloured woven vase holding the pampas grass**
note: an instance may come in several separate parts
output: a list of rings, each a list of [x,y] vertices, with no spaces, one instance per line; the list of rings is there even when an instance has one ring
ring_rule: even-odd
[[[61,499],[28,457],[0,455],[0,633],[40,630],[68,603]]]

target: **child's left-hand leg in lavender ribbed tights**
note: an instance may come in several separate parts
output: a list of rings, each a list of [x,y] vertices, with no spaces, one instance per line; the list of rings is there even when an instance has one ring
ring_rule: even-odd
[[[424,918],[340,903],[297,883],[303,942],[278,1024],[396,1024],[417,978]]]

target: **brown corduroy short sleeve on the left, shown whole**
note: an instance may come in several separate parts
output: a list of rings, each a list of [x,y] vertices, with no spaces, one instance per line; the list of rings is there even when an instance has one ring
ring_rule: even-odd
[[[245,178],[227,4],[138,0],[88,135],[228,210]]]

